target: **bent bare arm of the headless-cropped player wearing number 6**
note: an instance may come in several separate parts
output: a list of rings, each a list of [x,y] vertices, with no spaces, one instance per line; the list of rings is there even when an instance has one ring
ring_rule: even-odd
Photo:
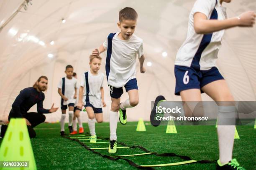
[[[208,34],[236,26],[252,27],[255,24],[255,17],[253,11],[248,11],[235,18],[208,20],[205,14],[197,12],[194,14],[194,28],[197,34]]]

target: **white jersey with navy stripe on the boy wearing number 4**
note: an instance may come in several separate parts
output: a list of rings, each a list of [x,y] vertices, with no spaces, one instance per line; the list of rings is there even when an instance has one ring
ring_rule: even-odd
[[[132,35],[128,40],[120,40],[117,32],[108,35],[103,43],[107,50],[106,74],[108,85],[123,87],[129,80],[136,78],[136,56],[143,55],[143,40]]]

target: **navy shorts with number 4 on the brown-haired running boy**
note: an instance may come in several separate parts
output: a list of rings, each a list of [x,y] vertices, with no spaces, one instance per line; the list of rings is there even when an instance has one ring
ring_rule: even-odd
[[[137,85],[137,80],[136,78],[129,80],[126,84],[125,84],[125,91],[128,92],[129,90],[133,90],[133,89],[137,89],[138,90],[138,85]],[[118,99],[121,97],[121,95],[123,94],[123,87],[113,87],[110,86],[110,96]]]

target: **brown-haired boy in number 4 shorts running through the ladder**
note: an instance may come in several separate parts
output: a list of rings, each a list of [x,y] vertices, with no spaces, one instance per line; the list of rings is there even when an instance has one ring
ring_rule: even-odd
[[[120,112],[120,123],[125,125],[127,123],[126,109],[138,105],[137,56],[140,62],[140,71],[142,73],[146,71],[143,67],[145,60],[143,41],[133,34],[137,18],[137,12],[131,7],[125,7],[120,10],[118,22],[120,32],[110,33],[99,49],[95,49],[92,52],[92,55],[98,56],[107,50],[105,68],[111,96],[109,153],[116,153],[118,110]],[[128,92],[129,98],[120,104],[123,86]]]

